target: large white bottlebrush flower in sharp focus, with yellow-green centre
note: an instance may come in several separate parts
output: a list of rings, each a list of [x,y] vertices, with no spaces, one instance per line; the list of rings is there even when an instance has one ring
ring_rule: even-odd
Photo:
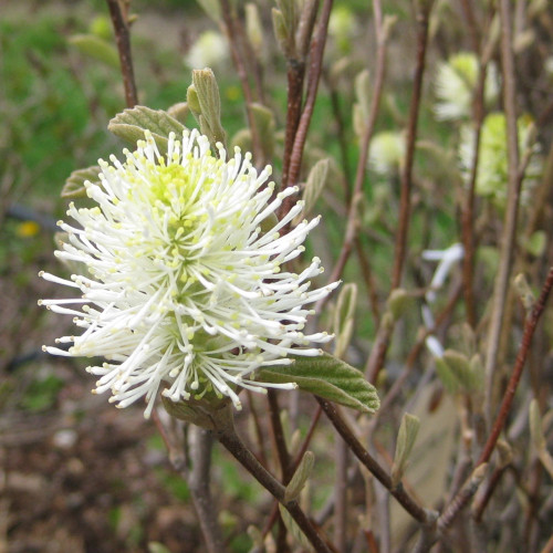
[[[227,159],[218,149],[217,158],[208,138],[192,131],[181,140],[171,135],[161,156],[147,133],[135,152],[125,150],[124,163],[101,160],[101,184],[86,182],[96,206],[70,205],[76,225],[59,223],[69,240],[56,255],[83,271],[70,280],[41,273],[80,292],[40,303],[83,328],[56,341],[72,344],[67,351],[45,351],[105,357],[87,368],[100,376],[95,392],[111,390],[119,407],[145,397],[146,416],[158,389],[174,401],[228,396],[240,408],[240,387],[293,388],[258,383],[254,372],[291,363],[291,353],[316,356],[310,343],[332,337],[302,330],[312,313],[305,305],[337,283],[310,290],[323,270],[317,258],[300,274],[283,268],[304,250],[319,219],[280,236],[302,202],[279,222],[273,213],[296,188],[272,198],[270,167],[258,174],[250,154],[237,148]]]

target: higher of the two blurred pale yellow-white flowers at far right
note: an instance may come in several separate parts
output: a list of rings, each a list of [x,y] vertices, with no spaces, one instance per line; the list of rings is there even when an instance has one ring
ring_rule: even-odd
[[[473,53],[460,52],[451,55],[447,62],[438,65],[436,74],[436,117],[442,121],[455,121],[470,117],[472,100],[478,81],[478,59]],[[484,84],[484,102],[487,105],[497,101],[499,95],[499,76],[495,64],[488,65]]]

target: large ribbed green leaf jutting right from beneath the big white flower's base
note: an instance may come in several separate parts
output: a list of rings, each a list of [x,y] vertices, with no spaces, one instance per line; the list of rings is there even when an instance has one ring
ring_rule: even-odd
[[[275,365],[258,371],[260,382],[293,382],[302,392],[330,399],[362,413],[375,413],[380,401],[375,387],[363,373],[347,363],[323,353],[319,357],[291,356],[291,365]]]

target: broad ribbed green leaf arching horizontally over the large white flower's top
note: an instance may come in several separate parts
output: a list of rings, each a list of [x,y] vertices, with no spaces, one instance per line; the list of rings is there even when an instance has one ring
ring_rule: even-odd
[[[175,133],[177,138],[181,137],[185,126],[167,112],[139,105],[117,114],[109,121],[107,129],[133,146],[138,140],[144,140],[144,132],[149,131],[159,153],[165,154],[169,134]]]

